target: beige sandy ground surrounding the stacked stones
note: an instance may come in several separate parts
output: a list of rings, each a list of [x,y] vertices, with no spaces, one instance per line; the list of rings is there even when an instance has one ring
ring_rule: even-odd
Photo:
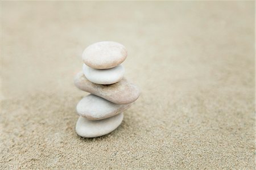
[[[2,2],[0,169],[254,169],[254,2]],[[128,49],[141,97],[76,135],[82,50]]]

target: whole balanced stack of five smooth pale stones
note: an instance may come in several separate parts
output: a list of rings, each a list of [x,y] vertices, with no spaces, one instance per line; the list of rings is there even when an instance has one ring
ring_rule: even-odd
[[[76,133],[81,137],[100,137],[115,130],[123,120],[123,111],[139,97],[139,89],[123,78],[121,63],[127,57],[125,46],[112,41],[97,42],[82,54],[82,72],[75,85],[89,92],[77,104],[80,115]]]

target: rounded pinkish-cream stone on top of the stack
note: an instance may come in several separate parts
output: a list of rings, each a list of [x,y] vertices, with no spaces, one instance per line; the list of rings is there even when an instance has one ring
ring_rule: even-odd
[[[127,57],[125,46],[113,41],[96,42],[89,45],[82,53],[82,60],[93,69],[110,69]]]

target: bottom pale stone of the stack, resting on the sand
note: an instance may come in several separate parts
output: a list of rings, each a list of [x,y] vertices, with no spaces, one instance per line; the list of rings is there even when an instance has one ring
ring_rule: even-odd
[[[76,122],[76,133],[84,138],[100,137],[117,129],[122,120],[123,113],[98,121],[87,120],[80,116]]]

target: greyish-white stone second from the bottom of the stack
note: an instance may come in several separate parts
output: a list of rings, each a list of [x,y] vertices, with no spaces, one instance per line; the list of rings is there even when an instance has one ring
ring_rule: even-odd
[[[76,106],[77,113],[88,120],[101,120],[115,116],[130,108],[131,104],[114,104],[95,95],[82,98]]]

